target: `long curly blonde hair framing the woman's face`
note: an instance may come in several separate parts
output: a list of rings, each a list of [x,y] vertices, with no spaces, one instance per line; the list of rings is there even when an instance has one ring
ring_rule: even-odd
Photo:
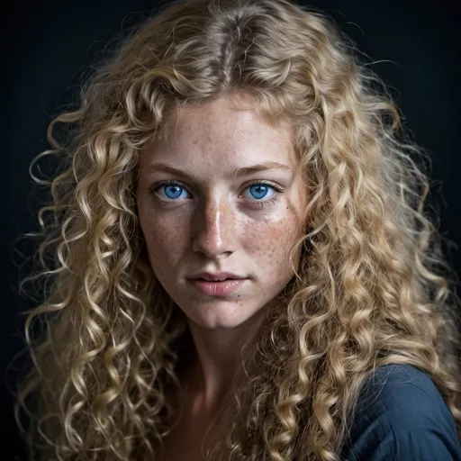
[[[245,385],[209,457],[338,460],[360,386],[385,364],[426,372],[459,429],[459,301],[425,206],[429,156],[384,82],[317,10],[186,0],[98,63],[32,162],[61,158],[39,212],[41,268],[21,285],[41,281],[43,296],[16,413],[32,457],[143,458],[167,435],[167,393],[193,346],[149,266],[138,155],[175,111],[224,94],[292,123],[309,200],[294,277],[242,351]]]

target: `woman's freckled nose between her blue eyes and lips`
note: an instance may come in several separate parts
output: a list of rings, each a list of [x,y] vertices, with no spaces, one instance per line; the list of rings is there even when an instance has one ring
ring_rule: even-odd
[[[229,256],[236,249],[236,216],[224,201],[210,199],[194,215],[193,250],[207,258]]]

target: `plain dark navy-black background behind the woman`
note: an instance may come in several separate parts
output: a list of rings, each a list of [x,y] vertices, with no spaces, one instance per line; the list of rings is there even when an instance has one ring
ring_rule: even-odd
[[[456,2],[452,2],[453,5]],[[23,348],[23,318],[32,307],[18,294],[20,272],[14,239],[36,228],[37,190],[28,167],[47,149],[46,129],[64,104],[76,99],[87,66],[122,29],[156,11],[155,0],[15,0],[3,7],[1,32],[2,317],[0,318],[0,439],[2,460],[23,459],[23,444],[13,418],[14,386],[19,371],[6,366]],[[448,240],[447,258],[461,272],[461,187],[458,139],[461,103],[460,35],[455,6],[447,1],[313,0],[357,41],[375,62],[375,72],[391,87],[406,126],[432,160],[438,186],[432,202],[439,229]],[[24,251],[30,250],[21,247]],[[27,266],[24,267],[27,271]]]

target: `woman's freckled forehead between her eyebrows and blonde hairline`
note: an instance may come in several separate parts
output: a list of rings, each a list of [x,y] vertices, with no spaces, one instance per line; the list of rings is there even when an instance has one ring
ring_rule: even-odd
[[[141,151],[141,165],[159,158],[187,167],[226,167],[258,161],[296,163],[287,122],[269,123],[255,110],[229,98],[186,106],[167,120]]]

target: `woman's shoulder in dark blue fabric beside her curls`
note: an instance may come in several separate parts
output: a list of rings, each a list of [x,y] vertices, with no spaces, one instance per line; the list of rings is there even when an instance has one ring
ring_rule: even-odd
[[[363,384],[341,459],[461,461],[456,423],[429,375],[379,367]]]

